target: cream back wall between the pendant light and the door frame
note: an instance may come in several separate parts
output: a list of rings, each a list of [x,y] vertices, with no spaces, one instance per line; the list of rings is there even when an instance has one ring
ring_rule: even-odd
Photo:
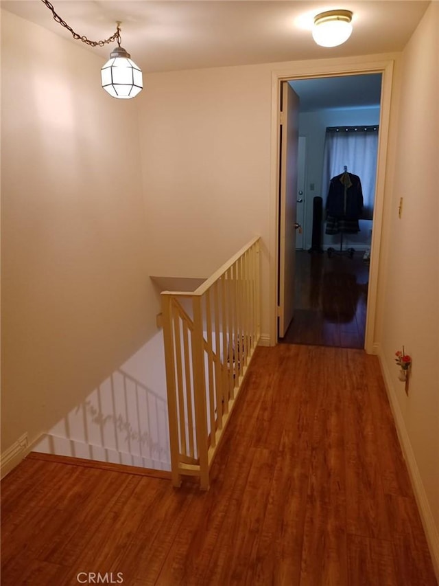
[[[140,131],[153,275],[205,278],[259,234],[268,298],[270,80],[269,66],[146,76]]]

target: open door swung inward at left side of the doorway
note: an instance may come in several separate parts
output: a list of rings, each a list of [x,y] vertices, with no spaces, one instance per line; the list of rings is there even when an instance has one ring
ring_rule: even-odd
[[[296,199],[299,97],[281,87],[281,160],[279,164],[278,337],[283,338],[294,313],[296,265]]]

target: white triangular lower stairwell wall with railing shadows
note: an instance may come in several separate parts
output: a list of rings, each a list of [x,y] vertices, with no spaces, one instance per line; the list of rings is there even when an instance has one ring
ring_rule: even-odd
[[[108,376],[34,450],[170,470],[163,333]]]

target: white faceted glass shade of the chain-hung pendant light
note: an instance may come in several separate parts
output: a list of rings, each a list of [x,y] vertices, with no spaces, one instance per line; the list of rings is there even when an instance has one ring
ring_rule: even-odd
[[[113,98],[134,98],[143,89],[141,69],[123,47],[116,47],[101,69],[102,87]]]

